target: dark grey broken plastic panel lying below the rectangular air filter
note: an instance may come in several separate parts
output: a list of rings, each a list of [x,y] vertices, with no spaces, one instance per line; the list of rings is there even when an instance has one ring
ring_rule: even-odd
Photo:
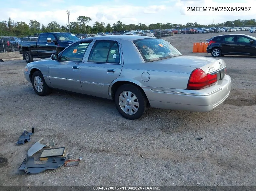
[[[35,164],[34,157],[25,158],[18,170],[24,170],[29,174],[40,173],[47,169],[56,169],[65,163],[66,157],[49,157],[45,164]]]

